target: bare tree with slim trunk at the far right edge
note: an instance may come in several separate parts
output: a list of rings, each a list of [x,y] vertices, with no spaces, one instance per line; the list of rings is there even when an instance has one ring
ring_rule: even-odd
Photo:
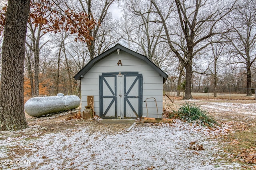
[[[232,32],[226,35],[232,48],[230,53],[234,61],[242,63],[246,68],[246,96],[252,96],[252,64],[256,60],[256,2],[244,0],[238,4],[238,8],[230,13],[230,20],[226,23]]]

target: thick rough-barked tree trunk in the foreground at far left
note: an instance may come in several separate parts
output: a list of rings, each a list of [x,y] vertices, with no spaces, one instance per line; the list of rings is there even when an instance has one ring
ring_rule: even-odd
[[[28,127],[24,113],[25,39],[30,0],[9,0],[4,27],[0,130]]]

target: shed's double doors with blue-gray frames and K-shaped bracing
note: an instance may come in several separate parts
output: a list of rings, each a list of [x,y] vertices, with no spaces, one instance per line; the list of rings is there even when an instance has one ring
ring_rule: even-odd
[[[142,79],[138,72],[102,73],[99,77],[100,117],[142,116]]]

